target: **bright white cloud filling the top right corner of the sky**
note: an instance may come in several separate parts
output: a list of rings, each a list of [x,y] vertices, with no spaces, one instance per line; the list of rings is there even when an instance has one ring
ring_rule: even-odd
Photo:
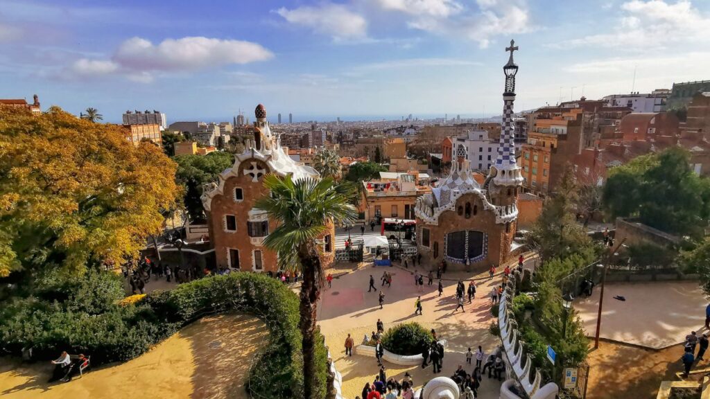
[[[710,18],[688,0],[674,4],[664,0],[633,0],[621,5],[624,15],[612,33],[586,35],[552,45],[554,48],[596,46],[648,50],[672,43],[707,40]]]

